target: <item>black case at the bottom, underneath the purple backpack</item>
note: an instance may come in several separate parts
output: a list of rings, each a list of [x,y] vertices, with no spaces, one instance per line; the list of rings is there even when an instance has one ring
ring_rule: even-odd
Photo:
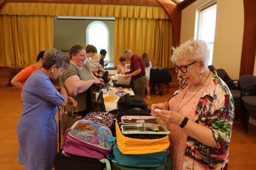
[[[55,156],[55,170],[103,170],[105,163],[99,159],[85,158],[80,156],[67,157],[61,153],[62,149]]]

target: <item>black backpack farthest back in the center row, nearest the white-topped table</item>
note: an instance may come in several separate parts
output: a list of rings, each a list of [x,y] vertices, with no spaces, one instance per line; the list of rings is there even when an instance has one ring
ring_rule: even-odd
[[[121,96],[117,102],[117,108],[121,112],[135,107],[142,108],[146,112],[148,111],[148,104],[140,95],[130,95],[127,93]]]

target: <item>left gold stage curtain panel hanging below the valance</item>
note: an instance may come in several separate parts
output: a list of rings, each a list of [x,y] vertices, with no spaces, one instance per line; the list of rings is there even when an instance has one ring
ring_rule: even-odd
[[[52,16],[0,15],[0,66],[28,66],[53,48]]]

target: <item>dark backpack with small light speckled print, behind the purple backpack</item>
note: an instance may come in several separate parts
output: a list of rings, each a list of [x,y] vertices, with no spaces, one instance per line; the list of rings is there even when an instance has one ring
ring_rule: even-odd
[[[108,112],[91,112],[83,117],[83,120],[96,122],[112,128],[114,124],[114,115]]]

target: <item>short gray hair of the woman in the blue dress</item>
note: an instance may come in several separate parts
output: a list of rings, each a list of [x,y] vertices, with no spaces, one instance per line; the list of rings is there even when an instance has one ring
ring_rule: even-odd
[[[68,57],[60,50],[51,48],[44,52],[43,68],[45,70],[50,69],[54,64],[57,68],[67,69],[69,63]]]

